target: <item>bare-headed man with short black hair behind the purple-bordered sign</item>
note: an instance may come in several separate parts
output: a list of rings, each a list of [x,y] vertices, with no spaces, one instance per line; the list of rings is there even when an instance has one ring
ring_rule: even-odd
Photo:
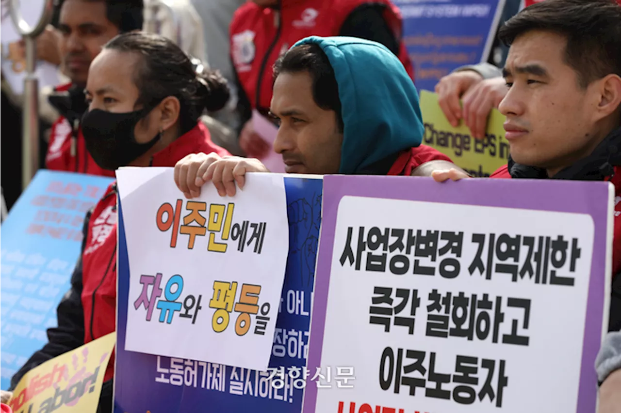
[[[510,157],[492,178],[610,180],[621,196],[619,22],[621,6],[612,0],[546,0],[507,22],[500,35],[510,44],[504,68],[509,90],[499,110],[507,117]],[[433,177],[467,175],[453,170]],[[620,216],[610,331],[621,329]]]

